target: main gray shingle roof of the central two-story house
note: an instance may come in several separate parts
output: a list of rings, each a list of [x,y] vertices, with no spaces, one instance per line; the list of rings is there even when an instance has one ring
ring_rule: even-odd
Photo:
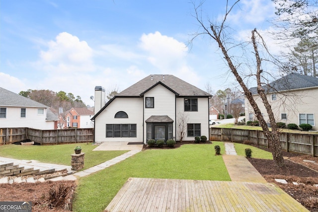
[[[149,90],[159,82],[179,96],[211,96],[211,94],[170,74],[149,75],[139,82],[128,87],[127,89],[123,90],[122,92],[118,93],[116,96],[142,96],[145,91]]]

